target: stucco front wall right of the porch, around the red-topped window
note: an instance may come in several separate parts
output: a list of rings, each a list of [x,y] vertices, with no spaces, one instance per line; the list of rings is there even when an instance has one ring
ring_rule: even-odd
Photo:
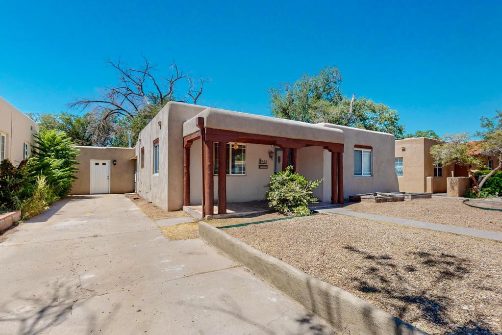
[[[399,189],[398,178],[394,170],[394,135],[373,132],[363,129],[318,124],[322,127],[335,128],[343,131],[345,144],[343,147],[343,196],[368,192],[396,192]],[[354,176],[354,147],[370,146],[371,176]],[[331,154],[324,150],[324,180],[325,189],[331,192]],[[326,193],[324,195],[326,197]],[[326,199],[325,201],[329,201]]]

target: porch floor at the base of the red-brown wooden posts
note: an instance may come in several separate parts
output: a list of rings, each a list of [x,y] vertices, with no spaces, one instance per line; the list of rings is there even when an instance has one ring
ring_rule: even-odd
[[[334,206],[336,205],[333,205],[329,202],[319,202],[311,204],[309,208],[315,210],[319,208],[330,208]],[[202,218],[201,205],[183,206],[183,210],[196,218]],[[245,202],[228,202],[226,204],[226,214],[218,214],[218,204],[216,202],[213,207],[214,214],[211,216],[211,218],[239,217],[273,211],[275,210],[269,207],[269,202],[267,200],[257,200]]]

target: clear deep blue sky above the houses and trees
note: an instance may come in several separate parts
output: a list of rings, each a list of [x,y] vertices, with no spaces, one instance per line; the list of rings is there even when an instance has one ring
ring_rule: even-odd
[[[0,95],[67,110],[115,82],[107,59],[175,60],[209,77],[200,104],[269,115],[267,89],[340,68],[345,95],[399,111],[408,132],[475,131],[502,109],[502,2],[4,2]]]

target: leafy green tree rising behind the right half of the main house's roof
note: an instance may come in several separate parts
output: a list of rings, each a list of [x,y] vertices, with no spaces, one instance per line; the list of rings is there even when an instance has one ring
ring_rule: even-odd
[[[403,136],[404,125],[399,123],[396,110],[365,97],[344,97],[340,84],[337,67],[326,67],[313,76],[304,74],[293,84],[281,83],[269,89],[271,112],[277,118],[328,122],[391,133],[396,138]]]

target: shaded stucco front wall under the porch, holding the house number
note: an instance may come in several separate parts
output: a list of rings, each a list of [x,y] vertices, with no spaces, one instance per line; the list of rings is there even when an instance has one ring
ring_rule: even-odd
[[[265,187],[274,173],[274,159],[269,158],[270,145],[246,144],[246,174],[226,176],[228,202],[265,199]],[[268,169],[258,167],[259,159],[268,161]],[[200,140],[190,147],[190,204],[200,205],[202,198],[202,169],[200,164]],[[214,176],[214,200],[218,199],[218,176]]]

